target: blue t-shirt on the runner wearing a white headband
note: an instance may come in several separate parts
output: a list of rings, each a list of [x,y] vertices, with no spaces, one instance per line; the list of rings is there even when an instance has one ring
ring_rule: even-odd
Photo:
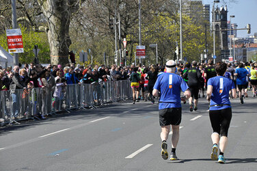
[[[188,88],[187,83],[182,77],[174,73],[163,73],[159,75],[154,84],[154,89],[161,92],[159,109],[181,107],[180,90],[185,92]]]

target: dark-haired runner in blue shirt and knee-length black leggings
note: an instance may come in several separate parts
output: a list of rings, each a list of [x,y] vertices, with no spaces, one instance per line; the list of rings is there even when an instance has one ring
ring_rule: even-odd
[[[213,133],[211,134],[211,140],[213,141],[211,159],[218,159],[219,163],[225,163],[224,150],[228,141],[228,129],[232,118],[232,109],[229,100],[230,90],[232,91],[232,97],[236,98],[234,82],[224,77],[226,69],[227,66],[224,62],[217,62],[215,71],[218,76],[208,79],[206,92],[207,100],[211,101],[209,117],[211,127],[213,127]],[[219,157],[217,156],[218,144]]]

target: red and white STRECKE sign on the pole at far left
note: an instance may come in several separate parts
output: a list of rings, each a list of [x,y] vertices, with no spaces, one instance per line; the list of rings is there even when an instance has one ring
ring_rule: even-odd
[[[23,36],[21,29],[6,30],[9,53],[23,53]]]

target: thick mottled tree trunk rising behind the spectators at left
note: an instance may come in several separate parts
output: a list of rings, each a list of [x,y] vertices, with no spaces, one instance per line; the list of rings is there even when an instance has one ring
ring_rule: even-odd
[[[69,36],[70,18],[75,4],[69,0],[38,0],[49,29],[51,64],[68,64],[68,53],[71,44]],[[77,3],[75,5],[77,7]]]

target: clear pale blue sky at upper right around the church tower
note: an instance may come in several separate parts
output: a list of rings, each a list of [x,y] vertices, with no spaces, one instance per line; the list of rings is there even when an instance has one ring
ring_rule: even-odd
[[[223,1],[226,2],[228,8],[228,20],[230,20],[230,16],[235,16],[231,18],[231,23],[236,23],[238,29],[245,28],[247,24],[251,25],[251,34],[247,34],[246,29],[237,30],[238,38],[245,38],[257,33],[257,0],[234,0],[236,1],[234,3],[230,2],[231,0],[220,0],[220,3],[215,3],[215,7],[224,5]],[[213,0],[202,0],[202,3],[210,4],[210,10],[213,10]],[[213,20],[211,19],[211,21]]]

